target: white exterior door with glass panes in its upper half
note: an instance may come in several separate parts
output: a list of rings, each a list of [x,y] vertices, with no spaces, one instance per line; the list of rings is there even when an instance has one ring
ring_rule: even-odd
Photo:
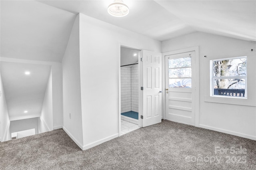
[[[165,56],[166,119],[195,125],[195,51]]]

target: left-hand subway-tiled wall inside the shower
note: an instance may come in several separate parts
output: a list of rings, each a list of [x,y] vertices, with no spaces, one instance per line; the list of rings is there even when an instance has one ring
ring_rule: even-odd
[[[132,110],[131,67],[121,67],[121,113]]]

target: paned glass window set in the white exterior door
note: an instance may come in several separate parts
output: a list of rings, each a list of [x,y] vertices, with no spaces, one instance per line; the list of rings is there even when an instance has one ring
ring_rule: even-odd
[[[169,59],[169,87],[191,88],[191,57]]]

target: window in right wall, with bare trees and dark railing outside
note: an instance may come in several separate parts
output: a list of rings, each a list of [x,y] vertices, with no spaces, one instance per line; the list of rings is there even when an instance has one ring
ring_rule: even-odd
[[[211,60],[211,95],[247,97],[246,57]]]

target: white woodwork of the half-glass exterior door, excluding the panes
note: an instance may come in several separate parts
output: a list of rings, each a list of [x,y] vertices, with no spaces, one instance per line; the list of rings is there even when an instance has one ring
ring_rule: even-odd
[[[169,60],[172,59],[182,59],[186,57],[191,57],[191,87],[179,86],[177,82],[177,87],[169,87],[169,79],[178,79],[179,77],[169,77]],[[188,125],[195,125],[195,51],[190,51],[186,53],[178,53],[173,55],[165,55],[165,98],[166,98],[166,119],[170,121],[175,121],[179,123],[184,123]],[[186,67],[180,67],[181,69],[186,69]],[[174,68],[175,69],[175,68]],[[186,77],[186,76],[184,76]],[[181,78],[182,80],[189,80],[189,78]],[[172,85],[170,85],[172,86]]]

